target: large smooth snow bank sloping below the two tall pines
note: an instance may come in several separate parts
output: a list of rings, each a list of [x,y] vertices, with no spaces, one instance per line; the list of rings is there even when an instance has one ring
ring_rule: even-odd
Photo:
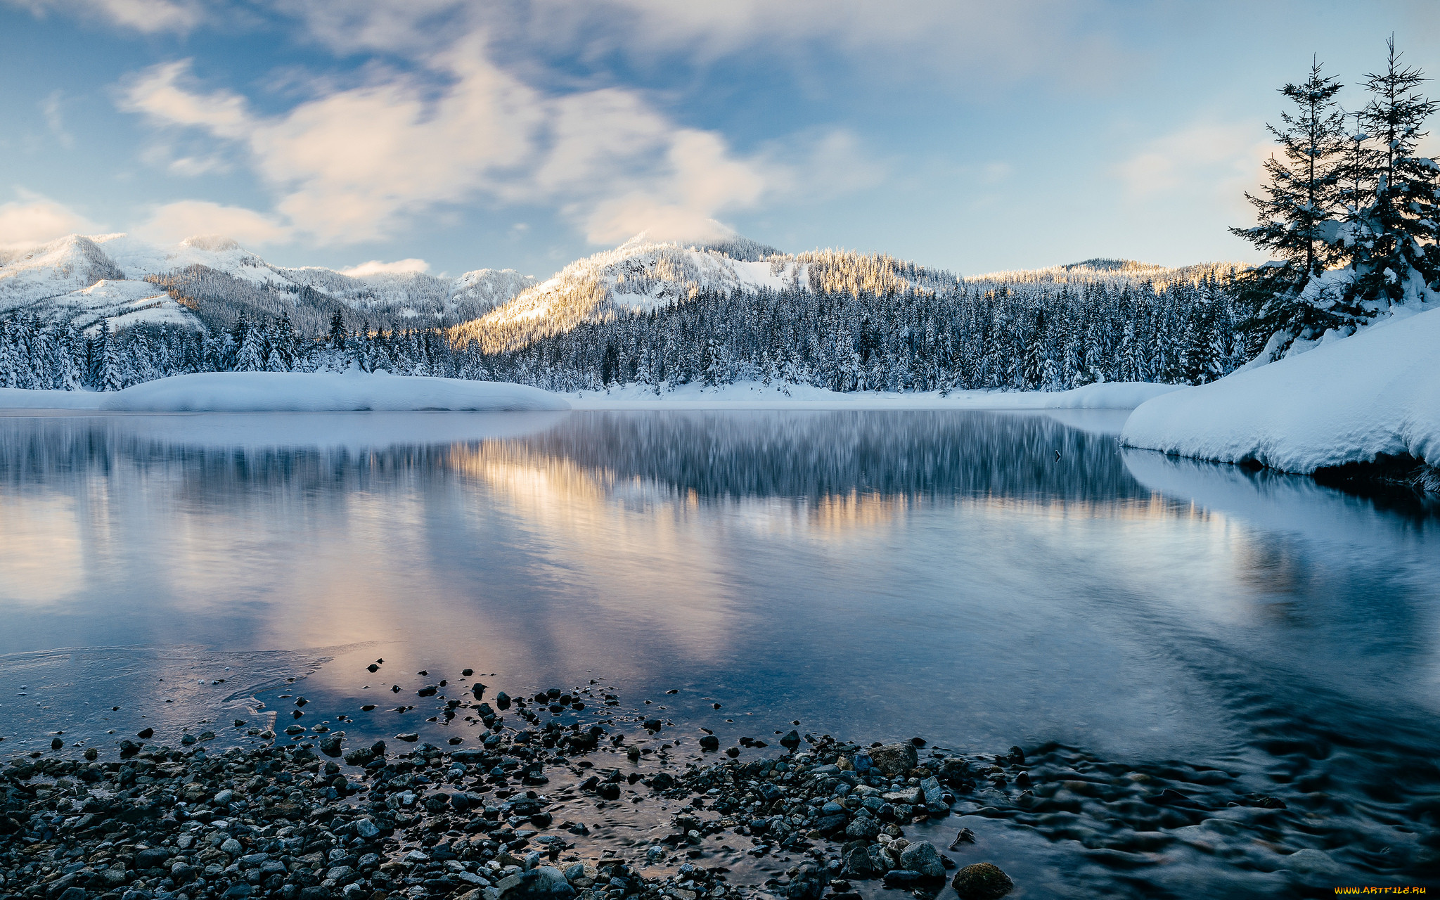
[[[1440,310],[1149,400],[1120,439],[1287,472],[1380,454],[1440,465]]]

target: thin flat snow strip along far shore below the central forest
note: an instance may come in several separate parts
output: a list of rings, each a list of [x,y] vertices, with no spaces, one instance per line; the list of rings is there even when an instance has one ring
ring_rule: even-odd
[[[1178,384],[1116,382],[1074,390],[952,390],[890,393],[834,392],[809,384],[743,382],[706,387],[680,384],[661,395],[645,384],[611,390],[582,390],[570,397],[575,409],[1135,409]]]

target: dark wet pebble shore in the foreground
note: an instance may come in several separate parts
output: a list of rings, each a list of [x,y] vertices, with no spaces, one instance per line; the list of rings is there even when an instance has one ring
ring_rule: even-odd
[[[680,739],[657,737],[661,719],[636,717],[636,743],[613,726],[531,727],[537,708],[569,711],[579,690],[528,704],[498,694],[494,706],[481,693],[461,710],[484,724],[480,747],[403,733],[354,746],[343,732],[292,724],[289,744],[266,730],[253,736],[259,746],[220,749],[207,732],[179,749],[125,739],[104,757],[96,747],[76,757],[58,739],[52,753],[10,759],[0,769],[0,900],[858,900],[865,881],[917,897],[952,880],[962,897],[1011,888],[994,865],[959,868],[935,844],[906,838],[907,825],[949,815],[955,793],[973,788],[975,759],[922,760],[920,739],[861,747],[791,732],[772,756],[749,760],[704,734],[700,752],[721,760],[704,765],[672,753]],[[511,706],[518,727],[501,714]],[[742,743],[750,756],[766,749]],[[582,821],[582,811],[647,798],[668,814],[648,842],[605,845]],[[707,865],[716,835],[753,857],[798,861],[746,884]]]

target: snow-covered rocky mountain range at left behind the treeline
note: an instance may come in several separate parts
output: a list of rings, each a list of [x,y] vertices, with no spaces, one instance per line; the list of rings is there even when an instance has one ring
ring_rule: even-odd
[[[176,324],[228,327],[240,315],[289,315],[321,331],[336,310],[351,324],[449,325],[485,314],[531,287],[514,269],[459,278],[423,272],[346,275],[325,268],[271,265],[223,238],[158,246],[131,235],[69,235],[0,256],[0,314],[89,327]]]

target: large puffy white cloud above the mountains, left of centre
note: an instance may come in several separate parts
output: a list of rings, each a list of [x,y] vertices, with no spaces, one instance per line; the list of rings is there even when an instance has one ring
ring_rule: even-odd
[[[590,240],[612,242],[750,207],[792,180],[716,132],[675,125],[638,92],[546,96],[491,63],[480,39],[431,63],[431,78],[376,76],[265,117],[199,89],[189,63],[173,62],[132,79],[122,107],[243,147],[276,190],[276,213],[327,243],[383,239],[477,199],[554,203]]]

